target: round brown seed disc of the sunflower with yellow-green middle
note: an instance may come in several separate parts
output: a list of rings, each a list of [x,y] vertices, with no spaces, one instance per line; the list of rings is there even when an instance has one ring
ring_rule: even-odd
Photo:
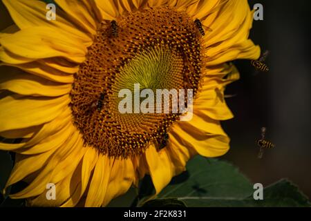
[[[123,158],[140,155],[150,144],[163,148],[180,113],[173,113],[172,108],[164,113],[162,107],[158,113],[158,106],[151,108],[150,103],[147,107],[154,112],[137,112],[137,102],[142,104],[147,97],[141,96],[144,89],[149,96],[159,89],[191,89],[195,94],[201,48],[194,21],[169,8],[135,12],[116,23],[103,22],[70,93],[73,119],[84,144]],[[131,95],[126,97],[126,113],[120,111],[123,90]],[[168,100],[176,102],[173,97]]]

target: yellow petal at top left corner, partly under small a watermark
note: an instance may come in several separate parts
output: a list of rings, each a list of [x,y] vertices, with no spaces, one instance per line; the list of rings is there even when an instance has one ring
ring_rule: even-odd
[[[3,3],[6,5],[6,8],[8,8],[12,19],[21,29],[32,28],[34,26],[50,27],[58,32],[66,32],[66,35],[70,37],[79,38],[86,46],[91,44],[91,38],[87,34],[66,21],[66,15],[62,10],[57,10],[55,21],[48,21],[48,19],[46,19],[46,3],[43,1],[3,0]],[[55,31],[49,33],[55,35]]]

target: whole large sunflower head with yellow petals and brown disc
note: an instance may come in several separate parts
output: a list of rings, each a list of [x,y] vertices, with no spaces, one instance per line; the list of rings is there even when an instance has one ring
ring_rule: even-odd
[[[28,183],[10,198],[106,206],[144,175],[159,193],[194,155],[228,151],[230,61],[260,55],[246,0],[56,0],[55,21],[44,1],[3,3],[15,25],[0,34],[0,136],[21,142],[0,149],[16,153],[6,188]],[[117,93],[135,83],[192,89],[192,119],[121,114]]]

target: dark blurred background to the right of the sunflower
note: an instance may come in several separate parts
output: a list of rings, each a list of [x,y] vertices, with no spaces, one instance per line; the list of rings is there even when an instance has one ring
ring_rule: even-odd
[[[223,122],[231,137],[231,149],[223,159],[232,162],[252,182],[264,186],[288,177],[311,198],[310,142],[310,23],[311,2],[249,1],[251,8],[262,3],[264,20],[254,21],[250,37],[271,51],[266,63],[269,73],[253,76],[249,61],[236,61],[241,80],[227,88],[237,94],[227,99],[234,119]],[[10,25],[10,17],[0,1],[0,30]],[[257,158],[255,142],[261,127],[276,147]],[[0,152],[0,166],[4,152]],[[8,166],[8,164],[6,164]],[[7,174],[1,173],[1,178]]]

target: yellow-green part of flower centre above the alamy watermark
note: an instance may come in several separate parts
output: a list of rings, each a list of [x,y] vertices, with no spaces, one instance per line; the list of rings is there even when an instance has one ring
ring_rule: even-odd
[[[116,90],[133,88],[140,84],[140,88],[182,88],[184,61],[182,55],[175,48],[156,46],[147,48],[120,69],[117,77]]]

